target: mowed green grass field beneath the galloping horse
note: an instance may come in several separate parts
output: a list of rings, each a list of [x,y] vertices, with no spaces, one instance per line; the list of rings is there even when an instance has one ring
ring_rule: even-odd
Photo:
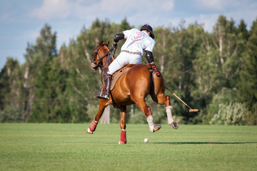
[[[88,126],[1,123],[0,170],[257,170],[256,126]]]

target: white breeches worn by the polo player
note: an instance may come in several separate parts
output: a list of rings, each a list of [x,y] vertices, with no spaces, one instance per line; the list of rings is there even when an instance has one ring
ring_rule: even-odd
[[[112,75],[113,73],[115,73],[115,71],[128,64],[140,64],[141,62],[142,58],[140,55],[121,52],[119,56],[117,56],[117,58],[109,66],[108,73]]]

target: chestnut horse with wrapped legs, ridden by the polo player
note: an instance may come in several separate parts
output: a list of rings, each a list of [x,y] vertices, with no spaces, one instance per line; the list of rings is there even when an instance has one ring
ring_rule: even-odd
[[[94,56],[91,59],[91,70],[96,71],[100,67],[101,71],[107,72],[109,64],[114,61],[114,57],[110,56],[111,51],[108,48],[109,42],[104,43],[101,41],[98,46],[94,49]],[[138,105],[143,113],[146,115],[146,120],[148,122],[151,132],[156,132],[161,128],[161,125],[153,124],[153,117],[151,115],[151,109],[146,105],[145,98],[147,95],[151,95],[153,101],[158,104],[164,104],[166,106],[166,113],[168,124],[172,128],[177,129],[178,124],[173,121],[171,114],[171,103],[170,97],[164,95],[164,81],[162,76],[156,76],[153,72],[149,70],[151,64],[132,64],[131,69],[124,73],[123,76],[119,78],[111,90],[111,95],[109,100],[100,99],[99,100],[99,111],[96,114],[94,120],[89,126],[86,133],[93,133],[96,130],[96,125],[98,124],[101,115],[104,112],[104,108],[107,105],[114,104],[114,102],[119,105],[121,110],[121,140],[120,144],[126,144],[126,106],[135,104]],[[114,101],[113,101],[114,100]]]

